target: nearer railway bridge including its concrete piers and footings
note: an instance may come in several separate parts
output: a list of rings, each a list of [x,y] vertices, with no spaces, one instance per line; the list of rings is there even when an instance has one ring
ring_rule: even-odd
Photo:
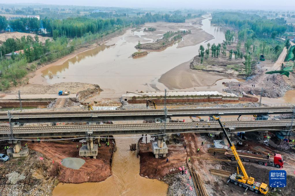
[[[97,122],[99,123],[99,122]],[[248,121],[223,121],[229,132],[254,131],[254,130],[284,130],[289,127],[292,120],[248,120]],[[0,139],[9,140],[13,148],[7,150],[7,154],[14,156],[27,156],[27,147],[21,147],[19,139],[23,138],[46,138],[46,137],[85,137],[87,145],[79,151],[80,156],[91,156],[96,158],[98,152],[99,138],[102,135],[135,135],[135,134],[157,134],[157,143],[153,144],[155,157],[168,153],[168,148],[163,142],[165,140],[164,123],[136,123],[136,124],[91,124],[75,125],[75,122],[64,125],[48,125],[44,123],[35,126],[23,126],[24,124],[0,127]],[[218,122],[188,122],[188,123],[166,123],[165,134],[172,133],[204,133],[213,134],[222,132]],[[13,136],[13,138],[12,138]],[[17,138],[17,139],[15,139]]]

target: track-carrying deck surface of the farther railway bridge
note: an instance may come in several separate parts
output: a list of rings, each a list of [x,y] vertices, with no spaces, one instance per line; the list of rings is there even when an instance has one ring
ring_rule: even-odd
[[[163,116],[162,109],[156,110],[81,110],[81,111],[44,111],[14,112],[12,119],[50,119],[50,118],[99,118],[99,117],[159,117]],[[168,109],[168,116],[208,116],[208,115],[265,115],[265,114],[291,114],[292,108],[285,107],[245,107],[245,108],[187,108]],[[7,113],[0,113],[1,120],[8,120]]]

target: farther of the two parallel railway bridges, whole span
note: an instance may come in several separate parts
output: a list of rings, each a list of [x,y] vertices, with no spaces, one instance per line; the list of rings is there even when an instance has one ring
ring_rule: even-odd
[[[210,115],[279,115],[291,114],[293,106],[261,105],[259,107],[231,108],[172,108],[168,109],[167,117],[210,116]],[[32,109],[11,111],[12,122],[89,122],[115,120],[152,120],[164,118],[162,109],[142,110],[68,110],[68,109]],[[9,120],[7,111],[0,112],[0,120]]]

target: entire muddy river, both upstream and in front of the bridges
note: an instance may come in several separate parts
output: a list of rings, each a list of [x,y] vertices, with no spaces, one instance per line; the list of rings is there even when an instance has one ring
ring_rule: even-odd
[[[224,31],[211,26],[209,18],[202,20],[202,29],[214,39],[202,43],[221,43]],[[191,24],[193,25],[193,24]],[[182,29],[183,30],[183,29]],[[158,82],[160,76],[181,63],[191,60],[199,45],[177,48],[178,43],[163,51],[151,51],[141,58],[130,58],[137,50],[134,46],[143,31],[128,30],[123,36],[112,39],[97,48],[78,54],[58,66],[50,66],[42,71],[47,83],[85,82],[99,84],[112,93],[126,91],[163,90],[165,85]],[[151,41],[151,39],[146,39]],[[142,42],[143,43],[143,42]],[[237,81],[224,79],[225,81]],[[214,81],[215,82],[215,81]],[[211,83],[208,90],[221,90],[222,80]],[[201,90],[201,87],[198,87]],[[62,184],[53,190],[53,195],[166,195],[168,185],[160,180],[139,175],[140,163],[135,152],[129,149],[137,139],[116,140],[117,151],[112,162],[112,176],[103,182]]]

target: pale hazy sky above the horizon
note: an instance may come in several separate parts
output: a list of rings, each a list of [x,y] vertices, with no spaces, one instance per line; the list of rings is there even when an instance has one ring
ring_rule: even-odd
[[[1,0],[1,3],[41,3],[57,5],[191,8],[191,9],[287,9],[294,8],[294,0]]]

